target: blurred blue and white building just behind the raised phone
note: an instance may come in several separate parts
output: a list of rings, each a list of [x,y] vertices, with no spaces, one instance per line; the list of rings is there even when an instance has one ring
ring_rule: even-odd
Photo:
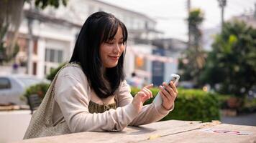
[[[170,80],[170,74],[177,74],[178,58],[188,44],[178,39],[155,39],[152,44],[157,46],[153,54],[160,56],[152,62],[152,83],[160,85]]]

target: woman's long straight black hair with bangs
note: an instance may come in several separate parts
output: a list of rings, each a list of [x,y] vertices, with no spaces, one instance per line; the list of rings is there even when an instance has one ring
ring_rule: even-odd
[[[81,64],[90,87],[100,98],[113,95],[124,80],[125,50],[119,57],[118,64],[106,70],[99,55],[100,45],[114,39],[119,26],[122,29],[123,44],[126,46],[128,33],[122,21],[104,11],[91,14],[83,24],[70,59],[70,62]]]

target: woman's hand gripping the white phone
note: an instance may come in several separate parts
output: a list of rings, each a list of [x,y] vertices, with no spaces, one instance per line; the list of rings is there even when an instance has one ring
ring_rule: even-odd
[[[178,90],[173,82],[170,82],[169,84],[163,82],[163,86],[160,86],[159,92],[163,99],[162,106],[169,110],[171,107],[173,107],[174,101],[178,96]]]

